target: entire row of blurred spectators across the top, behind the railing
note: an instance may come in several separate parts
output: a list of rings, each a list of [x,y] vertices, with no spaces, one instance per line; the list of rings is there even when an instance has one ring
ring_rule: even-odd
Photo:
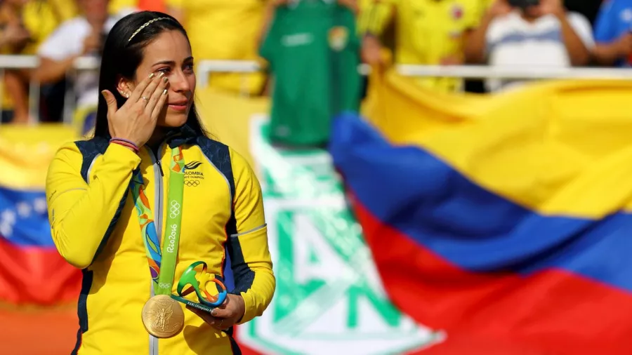
[[[73,72],[73,63],[79,57],[98,58],[108,30],[131,11],[159,10],[178,18],[189,33],[196,60],[261,60],[259,46],[275,8],[300,1],[333,1],[353,11],[359,55],[369,64],[383,60],[384,48],[392,50],[395,62],[419,65],[632,63],[632,0],[0,0],[1,53],[39,57],[37,68],[4,70],[2,119],[32,119],[31,82],[41,85],[40,121],[59,121],[68,100],[76,109],[94,107],[98,73]],[[213,74],[209,79],[211,86],[227,92],[269,92],[265,72]],[[447,92],[495,92],[519,84],[415,81]]]

